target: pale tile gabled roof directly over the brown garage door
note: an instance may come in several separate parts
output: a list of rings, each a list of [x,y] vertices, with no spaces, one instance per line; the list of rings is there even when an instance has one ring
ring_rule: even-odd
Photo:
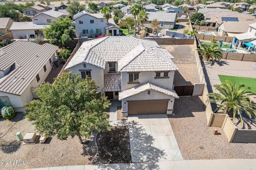
[[[135,86],[131,89],[124,90],[122,92],[119,92],[119,100],[123,100],[125,98],[140,94],[141,92],[147,91],[147,90],[154,90],[157,92],[161,92],[162,94],[165,94],[167,96],[172,96],[174,98],[179,98],[179,96],[176,94],[174,90],[167,89],[161,86],[158,86],[156,84],[153,84],[151,82],[147,82],[145,84],[140,84],[139,86]]]

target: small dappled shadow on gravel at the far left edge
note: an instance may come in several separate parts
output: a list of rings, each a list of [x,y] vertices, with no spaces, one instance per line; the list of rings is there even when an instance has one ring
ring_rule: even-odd
[[[17,140],[13,140],[9,142],[2,140],[0,145],[1,145],[0,146],[1,150],[4,152],[4,154],[12,154],[20,148],[21,142]]]

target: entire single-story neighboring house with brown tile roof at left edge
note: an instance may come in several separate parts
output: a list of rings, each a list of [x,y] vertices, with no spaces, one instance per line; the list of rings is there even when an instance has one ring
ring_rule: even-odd
[[[25,111],[23,105],[36,98],[35,88],[52,70],[57,49],[29,41],[15,41],[1,48],[0,108],[12,106],[16,112]]]

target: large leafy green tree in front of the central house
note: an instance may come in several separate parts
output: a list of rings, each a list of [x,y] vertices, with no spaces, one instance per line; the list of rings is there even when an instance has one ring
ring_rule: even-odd
[[[97,88],[90,78],[64,73],[54,84],[38,86],[35,92],[40,100],[26,105],[28,120],[46,137],[56,135],[60,140],[67,140],[77,136],[83,143],[82,137],[109,128],[105,113],[109,101]]]

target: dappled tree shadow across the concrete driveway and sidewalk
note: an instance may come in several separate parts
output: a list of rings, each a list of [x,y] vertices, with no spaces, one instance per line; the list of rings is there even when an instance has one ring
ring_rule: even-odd
[[[98,164],[99,169],[161,169],[160,160],[165,159],[165,152],[154,147],[154,138],[148,134],[145,125],[137,121],[129,123],[131,163]],[[109,168],[110,166],[110,168]]]

